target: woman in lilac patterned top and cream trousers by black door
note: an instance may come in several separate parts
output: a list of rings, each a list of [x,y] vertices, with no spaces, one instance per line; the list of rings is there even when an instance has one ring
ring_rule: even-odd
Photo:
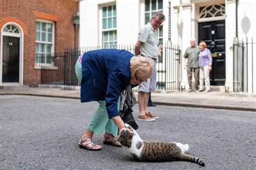
[[[205,92],[210,92],[210,72],[212,70],[212,54],[210,49],[206,48],[206,43],[201,41],[199,43],[199,91],[204,90],[205,82]]]

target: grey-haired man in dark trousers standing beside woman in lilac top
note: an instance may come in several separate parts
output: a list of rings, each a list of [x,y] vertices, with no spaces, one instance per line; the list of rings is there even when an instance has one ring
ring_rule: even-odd
[[[192,91],[192,72],[194,73],[194,92],[198,92],[199,83],[199,61],[198,55],[200,52],[199,46],[196,45],[196,39],[190,39],[190,47],[188,47],[184,54],[184,69],[187,68],[187,81],[190,86],[188,93]]]

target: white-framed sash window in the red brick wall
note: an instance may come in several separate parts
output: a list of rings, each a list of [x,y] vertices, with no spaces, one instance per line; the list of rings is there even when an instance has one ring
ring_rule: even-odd
[[[47,20],[36,21],[36,65],[52,63],[54,23]]]

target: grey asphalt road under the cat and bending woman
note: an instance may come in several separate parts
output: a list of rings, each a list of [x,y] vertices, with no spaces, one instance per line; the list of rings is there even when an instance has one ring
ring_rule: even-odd
[[[0,95],[1,169],[199,169],[191,162],[139,162],[122,148],[78,147],[96,102]],[[256,113],[158,106],[156,122],[138,122],[144,140],[178,141],[205,169],[256,168]],[[138,105],[134,107],[137,117]],[[102,144],[103,135],[94,141]]]

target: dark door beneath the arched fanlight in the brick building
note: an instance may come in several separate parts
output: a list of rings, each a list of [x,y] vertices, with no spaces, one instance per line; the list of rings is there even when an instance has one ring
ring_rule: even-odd
[[[19,38],[3,36],[3,83],[19,82]]]

